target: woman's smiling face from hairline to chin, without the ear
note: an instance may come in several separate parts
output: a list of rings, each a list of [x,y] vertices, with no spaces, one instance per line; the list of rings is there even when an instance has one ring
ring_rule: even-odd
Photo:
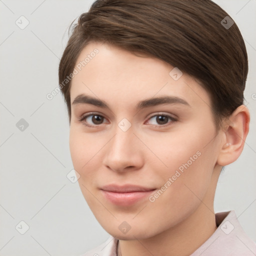
[[[70,87],[69,146],[80,189],[108,233],[152,237],[214,193],[220,139],[210,97],[160,59],[91,42],[76,66],[88,55]]]

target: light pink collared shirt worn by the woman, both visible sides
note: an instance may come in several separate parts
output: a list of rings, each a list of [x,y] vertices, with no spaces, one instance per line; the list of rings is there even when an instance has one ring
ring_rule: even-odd
[[[255,256],[256,243],[243,231],[234,210],[215,214],[217,229],[190,256]],[[118,240],[110,236],[80,256],[117,256]]]

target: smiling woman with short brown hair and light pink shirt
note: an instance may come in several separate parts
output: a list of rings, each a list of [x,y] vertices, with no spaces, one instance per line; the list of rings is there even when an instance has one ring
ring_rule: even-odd
[[[84,255],[255,255],[214,213],[248,133],[247,53],[210,0],[97,0],[59,64],[79,186],[110,237]]]

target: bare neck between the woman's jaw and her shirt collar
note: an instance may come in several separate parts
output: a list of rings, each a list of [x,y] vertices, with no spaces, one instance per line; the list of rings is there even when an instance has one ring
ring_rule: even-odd
[[[203,203],[184,221],[147,239],[119,240],[119,256],[188,256],[216,230],[213,209]],[[121,251],[121,252],[120,252]]]

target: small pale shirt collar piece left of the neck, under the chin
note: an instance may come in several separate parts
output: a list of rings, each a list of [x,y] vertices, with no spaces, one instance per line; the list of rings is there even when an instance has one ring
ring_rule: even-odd
[[[80,256],[116,256],[117,244],[118,240],[109,236],[103,243]]]

